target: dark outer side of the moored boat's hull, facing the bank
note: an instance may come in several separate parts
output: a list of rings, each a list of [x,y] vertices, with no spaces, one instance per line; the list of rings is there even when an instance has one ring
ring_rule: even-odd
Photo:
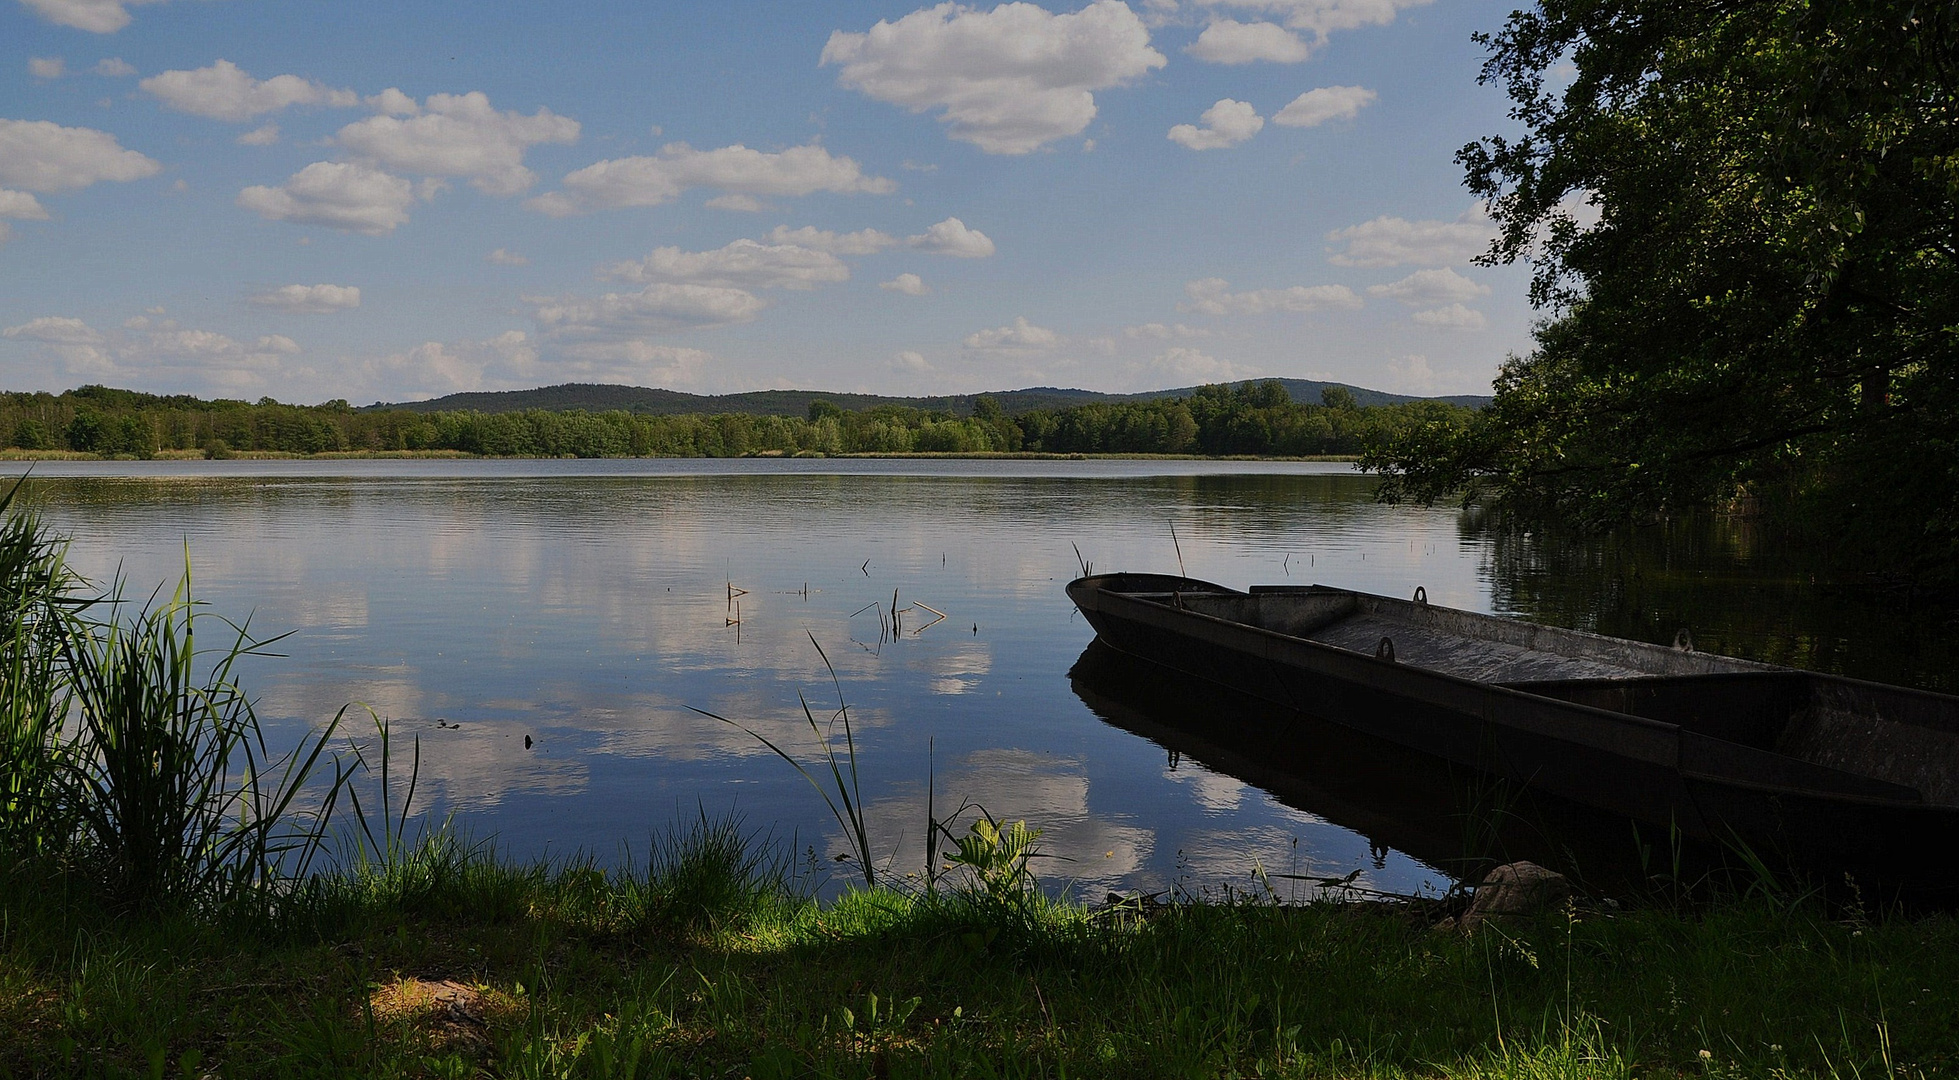
[[[1179,608],[1185,596],[1191,606],[1242,596],[1209,582],[1107,574],[1068,592],[1097,637],[1130,657],[1632,817],[1659,835],[1679,829],[1806,866],[1888,878],[1910,868],[1920,880],[1959,884],[1937,866],[1949,862],[1937,853],[1959,841],[1959,808],[1930,806],[1896,784]],[[1777,680],[1820,676],[1736,663],[1730,674],[1687,678],[1757,680],[1767,692]]]

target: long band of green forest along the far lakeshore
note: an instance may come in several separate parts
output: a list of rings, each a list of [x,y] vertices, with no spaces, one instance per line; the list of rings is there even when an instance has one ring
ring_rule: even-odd
[[[157,396],[108,386],[0,394],[0,435],[22,451],[147,459],[161,451],[458,451],[486,457],[742,457],[846,453],[1354,455],[1422,429],[1461,429],[1473,410],[1416,400],[1362,406],[1344,386],[1295,402],[1277,380],[1197,386],[1181,398],[1091,402],[1009,416],[813,398],[803,416],[625,410],[411,412],[347,402],[288,406]]]

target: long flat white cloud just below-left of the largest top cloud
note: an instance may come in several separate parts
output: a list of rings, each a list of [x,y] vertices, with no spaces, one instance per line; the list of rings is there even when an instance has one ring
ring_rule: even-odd
[[[717,188],[750,196],[805,196],[813,192],[889,194],[897,184],[866,176],[848,157],[833,157],[819,145],[789,147],[780,153],[742,145],[697,151],[668,143],[654,157],[619,157],[588,165],[564,176],[564,192],[537,196],[525,206],[564,218],[621,206],[660,206],[688,188]]]

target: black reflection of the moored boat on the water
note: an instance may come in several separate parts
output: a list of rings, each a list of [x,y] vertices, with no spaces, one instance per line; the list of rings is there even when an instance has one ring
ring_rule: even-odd
[[[1628,817],[1191,680],[1101,639],[1068,674],[1075,696],[1113,727],[1456,880],[1528,859],[1587,892],[1628,896],[1722,862],[1712,845],[1655,835]]]

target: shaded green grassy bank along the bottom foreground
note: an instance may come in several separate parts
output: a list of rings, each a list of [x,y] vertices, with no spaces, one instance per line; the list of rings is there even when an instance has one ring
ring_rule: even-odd
[[[435,845],[272,921],[8,876],[0,1072],[1947,1076],[1959,925],[1730,900],[1473,937],[1373,904],[801,900],[733,833],[648,872]]]

